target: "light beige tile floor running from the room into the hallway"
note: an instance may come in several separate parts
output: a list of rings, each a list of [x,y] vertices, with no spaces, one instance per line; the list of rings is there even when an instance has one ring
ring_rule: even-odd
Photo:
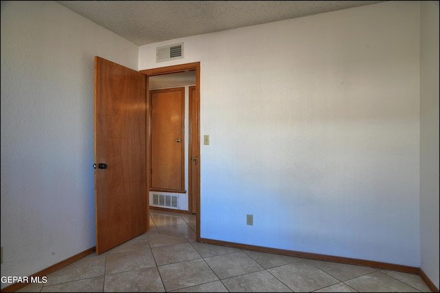
[[[17,292],[431,292],[417,274],[198,243],[195,221],[150,210],[148,232]]]

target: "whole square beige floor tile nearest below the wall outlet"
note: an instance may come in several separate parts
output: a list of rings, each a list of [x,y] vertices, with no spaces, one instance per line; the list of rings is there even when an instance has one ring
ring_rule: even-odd
[[[220,279],[264,270],[261,265],[242,251],[207,257],[205,261]]]

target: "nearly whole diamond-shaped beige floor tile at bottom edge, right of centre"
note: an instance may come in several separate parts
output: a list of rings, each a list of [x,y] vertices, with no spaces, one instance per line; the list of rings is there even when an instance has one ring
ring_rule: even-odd
[[[339,283],[333,276],[322,272],[307,261],[296,261],[268,271],[294,292],[311,292]]]

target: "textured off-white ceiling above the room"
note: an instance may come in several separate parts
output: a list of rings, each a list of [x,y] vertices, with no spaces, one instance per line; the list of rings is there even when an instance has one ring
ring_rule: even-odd
[[[383,1],[56,1],[136,45]]]

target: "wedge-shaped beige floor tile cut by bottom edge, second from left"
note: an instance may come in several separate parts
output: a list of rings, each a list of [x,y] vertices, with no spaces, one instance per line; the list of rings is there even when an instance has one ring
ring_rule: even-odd
[[[102,292],[104,276],[83,279],[50,286],[43,286],[41,292]]]

